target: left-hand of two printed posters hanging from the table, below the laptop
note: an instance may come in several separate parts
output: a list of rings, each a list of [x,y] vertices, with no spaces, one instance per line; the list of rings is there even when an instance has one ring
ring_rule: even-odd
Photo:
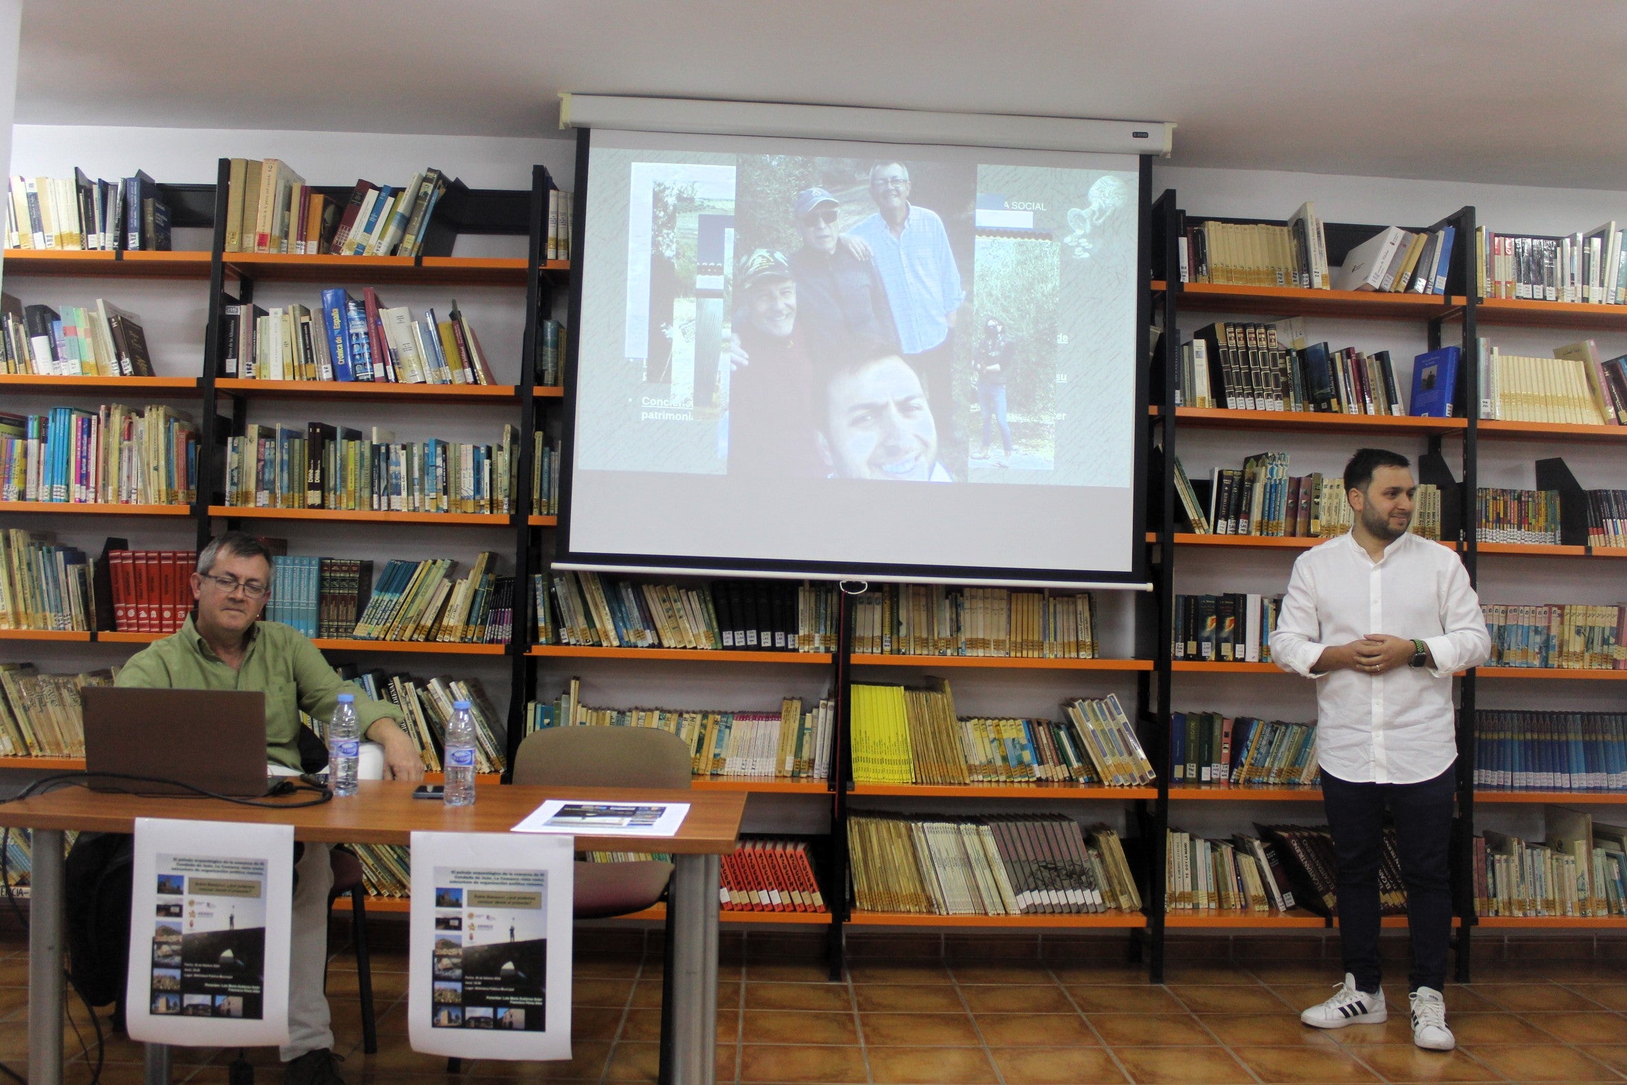
[[[125,987],[132,1039],[187,1048],[286,1041],[293,844],[290,825],[137,820]]]

